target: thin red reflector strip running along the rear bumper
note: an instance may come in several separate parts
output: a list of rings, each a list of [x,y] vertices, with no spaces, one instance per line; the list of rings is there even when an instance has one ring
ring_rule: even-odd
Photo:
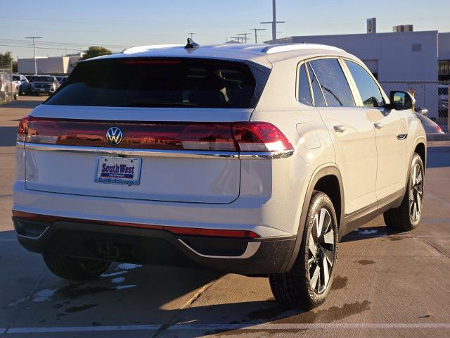
[[[139,223],[122,223],[109,222],[103,220],[83,220],[79,218],[65,218],[58,216],[39,215],[36,213],[24,213],[22,211],[13,210],[13,218],[20,218],[26,220],[35,220],[47,223],[53,222],[74,222],[74,223],[91,223],[98,225],[110,225],[120,227],[136,227],[150,230],[165,230],[172,234],[181,234],[186,236],[203,236],[203,237],[233,237],[233,238],[258,238],[259,235],[249,230],[216,230],[204,229],[198,227],[166,227],[162,225],[150,225]]]

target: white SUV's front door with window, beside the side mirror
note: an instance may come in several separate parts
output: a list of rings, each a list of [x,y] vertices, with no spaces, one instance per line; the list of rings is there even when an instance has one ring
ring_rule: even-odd
[[[406,184],[406,128],[399,112],[387,110],[382,91],[361,65],[345,61],[352,75],[361,103],[375,127],[377,145],[377,199],[383,200],[403,189]]]

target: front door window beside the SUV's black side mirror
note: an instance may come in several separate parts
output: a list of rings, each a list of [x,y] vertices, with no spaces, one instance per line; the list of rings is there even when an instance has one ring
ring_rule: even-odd
[[[385,100],[380,92],[380,88],[373,81],[371,75],[368,75],[366,70],[357,63],[346,60],[345,64],[352,74],[364,106],[369,108],[385,106]]]

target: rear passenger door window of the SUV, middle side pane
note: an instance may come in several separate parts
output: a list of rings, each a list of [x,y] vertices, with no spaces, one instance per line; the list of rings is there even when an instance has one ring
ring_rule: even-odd
[[[352,92],[336,58],[309,61],[329,107],[354,107]]]

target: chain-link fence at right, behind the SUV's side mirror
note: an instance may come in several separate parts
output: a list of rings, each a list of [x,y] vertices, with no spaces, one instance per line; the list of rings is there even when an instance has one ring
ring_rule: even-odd
[[[427,109],[428,118],[447,130],[450,81],[380,81],[380,84],[386,94],[392,90],[413,93],[416,98],[416,111]]]

